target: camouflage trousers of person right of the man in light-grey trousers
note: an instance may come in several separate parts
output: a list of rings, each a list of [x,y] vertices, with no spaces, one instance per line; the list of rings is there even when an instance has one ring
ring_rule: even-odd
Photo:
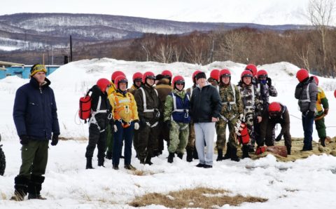
[[[223,114],[225,119],[232,118],[232,114]],[[216,133],[217,133],[217,141],[216,141],[216,149],[224,149],[226,144],[226,126],[229,127],[229,144],[231,147],[237,147],[237,136],[235,133],[235,126],[238,122],[237,118],[225,121],[220,119],[216,123]]]

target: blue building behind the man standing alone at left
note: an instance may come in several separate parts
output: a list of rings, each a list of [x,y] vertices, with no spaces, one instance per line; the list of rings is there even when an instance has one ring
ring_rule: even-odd
[[[19,76],[22,79],[29,79],[30,69],[32,65],[25,66],[11,66],[5,69],[0,69],[0,79],[4,79],[7,76]],[[45,65],[47,67],[47,76],[55,72],[59,68],[59,65]]]

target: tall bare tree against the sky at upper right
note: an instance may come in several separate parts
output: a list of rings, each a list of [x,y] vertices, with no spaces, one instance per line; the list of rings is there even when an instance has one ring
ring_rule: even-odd
[[[335,12],[334,0],[310,0],[307,11],[311,24],[316,27],[321,35],[324,71],[328,57],[325,38],[332,24],[333,13]]]

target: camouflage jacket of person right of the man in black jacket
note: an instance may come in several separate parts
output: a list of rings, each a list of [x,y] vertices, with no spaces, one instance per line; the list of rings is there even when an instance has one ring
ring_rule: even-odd
[[[244,114],[244,106],[237,86],[232,83],[229,85],[221,83],[219,85],[219,95],[222,100],[221,114],[223,116],[230,112],[237,114],[237,116]]]

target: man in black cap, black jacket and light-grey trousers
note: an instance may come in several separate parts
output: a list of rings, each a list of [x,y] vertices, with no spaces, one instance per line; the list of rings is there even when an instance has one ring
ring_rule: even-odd
[[[199,168],[212,168],[214,156],[215,123],[221,114],[221,97],[218,90],[207,82],[204,72],[196,75],[197,88],[190,99],[191,116],[195,129],[195,144]],[[204,142],[207,153],[204,152]]]

